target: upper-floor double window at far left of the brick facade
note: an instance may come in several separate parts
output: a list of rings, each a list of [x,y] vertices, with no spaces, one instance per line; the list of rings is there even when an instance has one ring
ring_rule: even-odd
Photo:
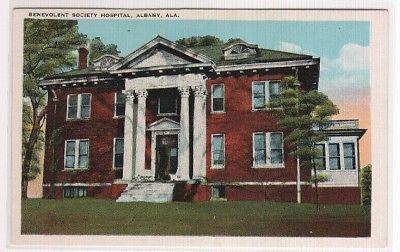
[[[73,94],[67,98],[67,119],[90,118],[91,94]]]

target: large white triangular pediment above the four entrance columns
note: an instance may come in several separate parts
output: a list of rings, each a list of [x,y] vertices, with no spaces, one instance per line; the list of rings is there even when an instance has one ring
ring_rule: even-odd
[[[157,36],[112,66],[110,70],[210,62],[210,59],[189,48]]]

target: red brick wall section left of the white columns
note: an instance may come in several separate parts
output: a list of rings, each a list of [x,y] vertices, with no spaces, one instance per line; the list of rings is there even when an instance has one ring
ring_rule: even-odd
[[[59,102],[57,116],[54,117],[54,103],[52,94],[49,93],[46,149],[44,162],[45,184],[51,181],[51,145],[50,137],[54,123],[61,127],[60,137],[55,148],[57,172],[55,182],[87,182],[104,183],[113,182],[120,171],[112,169],[113,138],[123,137],[124,119],[114,119],[114,95],[117,90],[123,89],[122,85],[109,84],[96,87],[74,87],[56,90]],[[78,93],[91,93],[91,116],[88,120],[66,120],[67,95]],[[56,120],[55,120],[56,119]],[[81,171],[65,171],[64,147],[67,139],[89,139],[89,169]]]

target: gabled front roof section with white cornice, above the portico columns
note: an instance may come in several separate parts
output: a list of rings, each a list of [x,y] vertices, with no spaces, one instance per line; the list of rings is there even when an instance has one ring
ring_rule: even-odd
[[[178,60],[178,64],[212,63],[209,58],[203,56],[202,54],[176,44],[161,36],[157,36],[112,66],[110,70],[120,70],[127,67],[132,68],[136,63],[139,64],[149,57],[157,54],[175,57],[173,60],[178,60],[179,58],[181,60]],[[146,64],[143,65],[149,66],[148,64],[149,62],[146,62]],[[162,62],[160,64],[162,64]]]

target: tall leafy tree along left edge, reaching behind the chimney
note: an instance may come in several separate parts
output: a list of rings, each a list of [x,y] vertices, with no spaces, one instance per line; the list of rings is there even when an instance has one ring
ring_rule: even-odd
[[[26,19],[24,23],[23,64],[23,141],[22,197],[27,196],[28,181],[40,172],[39,155],[43,150],[43,124],[46,92],[39,88],[42,78],[76,67],[76,50],[92,47],[92,57],[119,53],[116,45],[104,45],[100,38],[88,40],[78,32],[76,20]]]

